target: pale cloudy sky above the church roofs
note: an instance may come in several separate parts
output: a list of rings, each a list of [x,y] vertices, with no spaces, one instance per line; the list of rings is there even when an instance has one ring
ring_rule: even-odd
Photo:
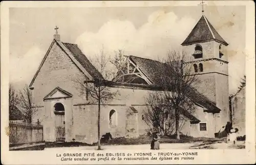
[[[180,45],[202,16],[201,5],[170,7],[10,8],[10,83],[29,84],[55,34],[78,44],[89,59],[104,52],[159,59]],[[245,75],[245,7],[204,6],[204,15],[229,43],[229,93]]]

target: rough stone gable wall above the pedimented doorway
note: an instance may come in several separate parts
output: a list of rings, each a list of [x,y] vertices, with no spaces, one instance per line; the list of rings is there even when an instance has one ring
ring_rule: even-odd
[[[43,99],[54,88],[60,87],[73,95],[73,100],[81,100],[77,90],[76,80],[85,80],[86,77],[69,56],[54,42],[44,64],[32,84],[32,90],[37,106],[44,106]],[[74,103],[75,104],[75,103]]]

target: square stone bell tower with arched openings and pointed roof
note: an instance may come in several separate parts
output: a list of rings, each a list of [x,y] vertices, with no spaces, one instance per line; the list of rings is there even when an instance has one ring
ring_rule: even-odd
[[[220,36],[205,15],[182,42],[182,50],[190,56],[191,74],[197,75],[200,84],[197,90],[221,109],[214,114],[219,129],[230,120],[228,103],[228,43]]]

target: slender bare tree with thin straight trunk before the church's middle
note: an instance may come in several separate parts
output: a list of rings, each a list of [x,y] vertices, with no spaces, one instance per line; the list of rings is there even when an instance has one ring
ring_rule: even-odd
[[[98,150],[101,150],[100,145],[100,110],[101,105],[113,99],[118,94],[118,90],[111,91],[108,83],[113,75],[112,70],[108,70],[107,66],[110,63],[110,58],[106,57],[103,48],[99,56],[95,56],[95,66],[98,68],[103,77],[94,78],[93,80],[75,80],[76,88],[82,92],[83,95],[90,96],[91,99],[87,104],[98,104]]]

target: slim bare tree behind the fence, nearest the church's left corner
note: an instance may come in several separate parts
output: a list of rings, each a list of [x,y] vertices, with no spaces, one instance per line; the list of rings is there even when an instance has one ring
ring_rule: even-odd
[[[37,108],[34,106],[32,92],[28,85],[19,91],[20,104],[19,107],[22,109],[24,114],[24,121],[26,123],[32,123],[33,116],[37,112]]]

